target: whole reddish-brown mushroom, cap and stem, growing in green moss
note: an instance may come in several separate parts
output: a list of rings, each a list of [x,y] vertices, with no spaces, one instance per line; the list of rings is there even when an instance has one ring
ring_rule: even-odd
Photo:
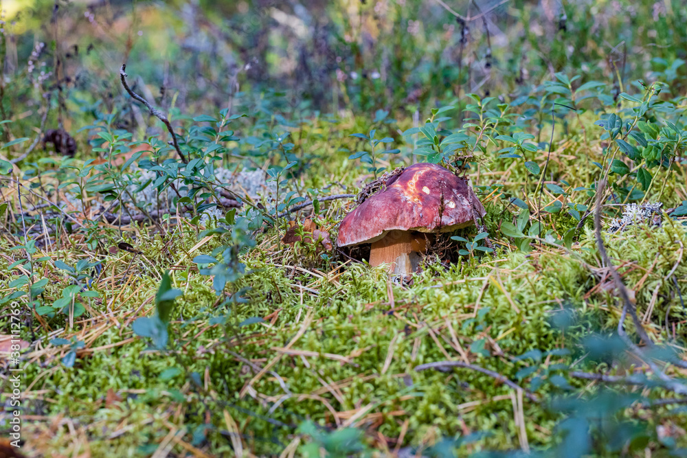
[[[392,176],[339,226],[339,247],[370,243],[370,266],[416,271],[428,233],[467,227],[486,211],[467,179],[432,163],[417,163]]]

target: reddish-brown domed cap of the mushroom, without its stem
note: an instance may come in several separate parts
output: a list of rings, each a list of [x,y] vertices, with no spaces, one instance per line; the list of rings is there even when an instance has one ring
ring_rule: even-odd
[[[392,176],[385,190],[341,220],[339,247],[371,243],[387,231],[447,232],[473,224],[486,211],[468,185],[440,165],[418,163]]]

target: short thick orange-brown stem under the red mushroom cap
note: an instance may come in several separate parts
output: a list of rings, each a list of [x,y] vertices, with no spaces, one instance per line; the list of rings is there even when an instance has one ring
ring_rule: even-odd
[[[389,231],[386,236],[372,242],[370,266],[389,264],[389,271],[408,275],[415,271],[419,253],[425,253],[425,234],[411,231]]]

